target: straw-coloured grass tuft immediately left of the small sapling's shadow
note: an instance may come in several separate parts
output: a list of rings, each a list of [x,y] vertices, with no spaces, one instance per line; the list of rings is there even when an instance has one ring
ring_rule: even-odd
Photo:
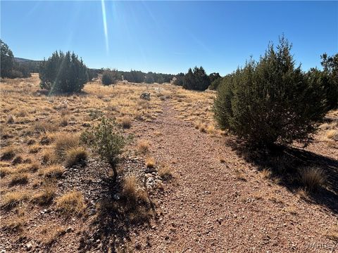
[[[81,214],[84,212],[84,198],[79,191],[65,193],[56,200],[56,208],[63,214]]]

